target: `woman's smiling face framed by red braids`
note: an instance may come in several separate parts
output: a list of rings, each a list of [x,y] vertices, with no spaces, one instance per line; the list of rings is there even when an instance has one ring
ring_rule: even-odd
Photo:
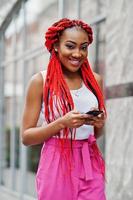
[[[58,44],[58,56],[63,71],[77,72],[88,54],[88,34],[80,27],[63,31]]]

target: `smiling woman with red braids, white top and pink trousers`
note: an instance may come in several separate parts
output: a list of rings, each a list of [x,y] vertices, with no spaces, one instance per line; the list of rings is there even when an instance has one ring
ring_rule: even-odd
[[[96,139],[105,123],[101,76],[87,60],[92,29],[62,19],[46,32],[47,71],[29,82],[22,120],[25,145],[43,143],[36,176],[38,200],[105,200],[104,161]],[[89,110],[100,110],[94,116]],[[37,127],[40,111],[43,126]]]

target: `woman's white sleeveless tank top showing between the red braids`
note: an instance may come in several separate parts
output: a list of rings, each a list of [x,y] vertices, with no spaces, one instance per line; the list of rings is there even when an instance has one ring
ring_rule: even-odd
[[[44,77],[44,72],[41,72],[42,76]],[[72,95],[72,99],[74,102],[74,107],[77,111],[81,113],[86,113],[91,108],[95,107],[98,108],[98,101],[96,96],[85,86],[82,84],[82,87],[77,90],[70,90]],[[42,109],[39,118],[40,123],[43,122],[43,126],[47,124],[44,118],[44,104],[42,104]],[[38,123],[39,124],[39,123]],[[61,131],[62,133],[62,131]],[[83,125],[76,129],[76,140],[83,140],[87,139],[90,134],[94,134],[94,127],[90,125]],[[70,135],[68,136],[70,138]]]

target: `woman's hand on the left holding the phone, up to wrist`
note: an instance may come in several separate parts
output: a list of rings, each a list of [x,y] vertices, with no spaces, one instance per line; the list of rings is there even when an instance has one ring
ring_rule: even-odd
[[[81,114],[76,110],[72,110],[61,117],[61,123],[63,128],[79,128],[82,126],[88,116],[86,114]]]

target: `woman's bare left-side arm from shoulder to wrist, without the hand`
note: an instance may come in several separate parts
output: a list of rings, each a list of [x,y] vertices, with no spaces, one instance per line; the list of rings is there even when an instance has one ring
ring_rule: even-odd
[[[29,82],[24,112],[22,116],[21,137],[25,145],[43,143],[49,137],[55,135],[62,128],[59,120],[56,120],[45,127],[36,127],[40,115],[43,95],[43,80],[40,74],[32,77]]]

